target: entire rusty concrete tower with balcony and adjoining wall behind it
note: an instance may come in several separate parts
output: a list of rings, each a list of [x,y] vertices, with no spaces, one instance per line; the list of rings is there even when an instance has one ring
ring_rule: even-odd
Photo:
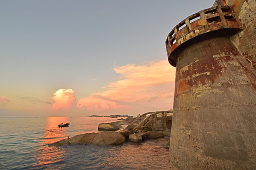
[[[254,11],[255,0],[216,0],[168,35],[170,170],[256,170]]]

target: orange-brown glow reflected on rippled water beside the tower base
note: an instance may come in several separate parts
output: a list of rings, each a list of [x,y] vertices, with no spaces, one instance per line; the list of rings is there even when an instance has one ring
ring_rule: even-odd
[[[119,169],[168,169],[168,150],[162,147],[166,139],[148,140],[140,144],[127,142],[105,150],[102,170]],[[149,154],[150,153],[150,154]],[[157,162],[153,164],[151,162]],[[139,168],[140,167],[140,168]]]

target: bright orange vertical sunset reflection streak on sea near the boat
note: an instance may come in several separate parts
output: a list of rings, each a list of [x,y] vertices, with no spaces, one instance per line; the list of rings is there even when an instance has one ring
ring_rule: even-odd
[[[44,135],[40,136],[40,148],[36,154],[37,163],[33,165],[34,167],[43,166],[44,169],[52,169],[54,164],[59,164],[64,160],[65,150],[61,147],[48,147],[47,144],[67,137],[68,127],[57,127],[66,122],[70,122],[69,117],[48,117],[46,119]]]

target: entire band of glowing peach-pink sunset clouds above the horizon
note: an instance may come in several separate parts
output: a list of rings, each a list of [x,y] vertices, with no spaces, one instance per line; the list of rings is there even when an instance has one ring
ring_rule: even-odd
[[[68,116],[72,113],[78,115],[122,113],[136,116],[152,110],[172,109],[175,68],[170,67],[167,60],[141,65],[128,64],[115,67],[113,70],[120,78],[102,87],[104,89],[102,92],[76,99],[74,89],[60,88],[53,93],[53,96],[49,96],[53,103],[41,111],[45,110],[48,115],[53,116]],[[8,102],[10,101],[3,95],[0,98],[1,108],[7,109]],[[36,111],[33,108],[27,110]]]

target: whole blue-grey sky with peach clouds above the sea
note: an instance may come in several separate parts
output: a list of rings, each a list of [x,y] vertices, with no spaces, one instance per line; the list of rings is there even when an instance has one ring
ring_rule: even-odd
[[[214,0],[0,0],[0,116],[173,109],[167,35]]]

